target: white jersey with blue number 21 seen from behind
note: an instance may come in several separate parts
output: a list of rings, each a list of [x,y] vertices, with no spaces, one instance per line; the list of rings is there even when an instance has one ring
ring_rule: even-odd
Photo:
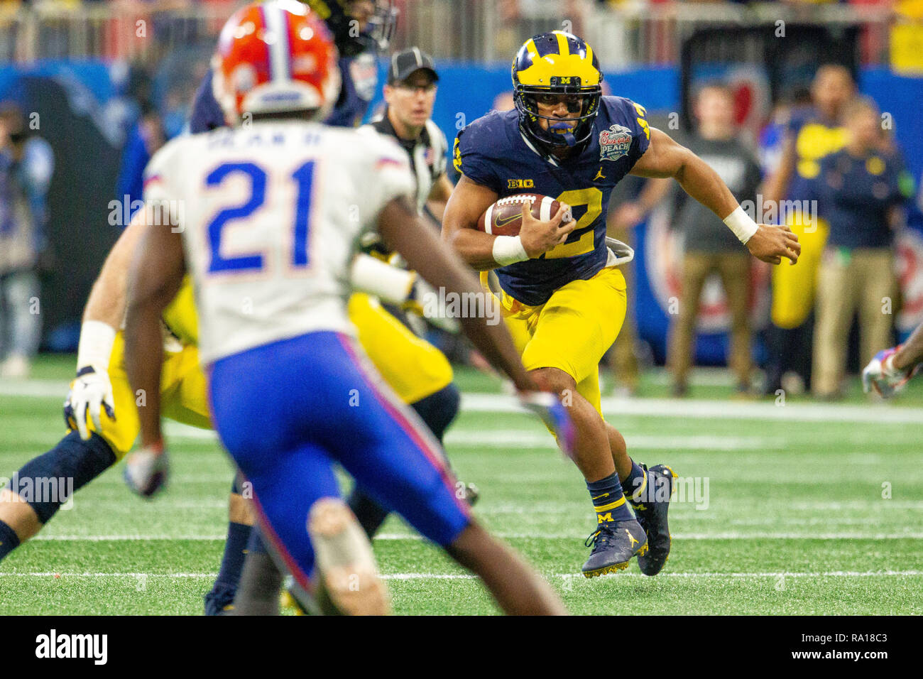
[[[316,331],[346,313],[359,238],[390,200],[413,200],[392,139],[303,122],[179,137],[145,170],[148,210],[169,209],[192,274],[203,363]]]

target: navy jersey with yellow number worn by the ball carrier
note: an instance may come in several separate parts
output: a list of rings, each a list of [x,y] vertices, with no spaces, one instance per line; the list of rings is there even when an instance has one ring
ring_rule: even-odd
[[[567,160],[543,156],[519,129],[519,113],[490,113],[455,139],[455,169],[500,198],[535,191],[566,202],[577,227],[567,242],[533,260],[498,268],[503,290],[522,304],[545,304],[570,281],[592,278],[605,266],[605,213],[612,188],[647,151],[644,108],[623,97],[602,97],[589,145]]]

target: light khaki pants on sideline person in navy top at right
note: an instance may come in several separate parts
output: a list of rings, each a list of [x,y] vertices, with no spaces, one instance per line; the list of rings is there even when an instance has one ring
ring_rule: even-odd
[[[824,250],[814,329],[814,394],[839,391],[849,326],[857,309],[860,361],[865,363],[891,346],[894,283],[891,249]]]

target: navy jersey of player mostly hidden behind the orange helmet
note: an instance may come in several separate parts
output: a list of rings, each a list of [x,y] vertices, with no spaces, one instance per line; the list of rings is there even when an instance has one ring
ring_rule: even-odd
[[[340,59],[342,88],[340,99],[324,122],[334,127],[356,127],[366,116],[368,104],[378,87],[378,70],[374,52],[364,52],[351,58]],[[211,69],[196,91],[189,118],[192,134],[224,127],[222,107],[211,91]]]

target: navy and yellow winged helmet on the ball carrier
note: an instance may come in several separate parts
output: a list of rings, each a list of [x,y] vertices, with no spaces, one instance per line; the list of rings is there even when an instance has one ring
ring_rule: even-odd
[[[530,38],[513,59],[513,98],[520,114],[520,129],[539,149],[577,147],[590,140],[593,120],[599,113],[603,74],[593,48],[576,35],[552,30]],[[548,94],[573,95],[569,115],[559,118],[540,115],[539,97]],[[548,121],[548,128],[540,120]]]

